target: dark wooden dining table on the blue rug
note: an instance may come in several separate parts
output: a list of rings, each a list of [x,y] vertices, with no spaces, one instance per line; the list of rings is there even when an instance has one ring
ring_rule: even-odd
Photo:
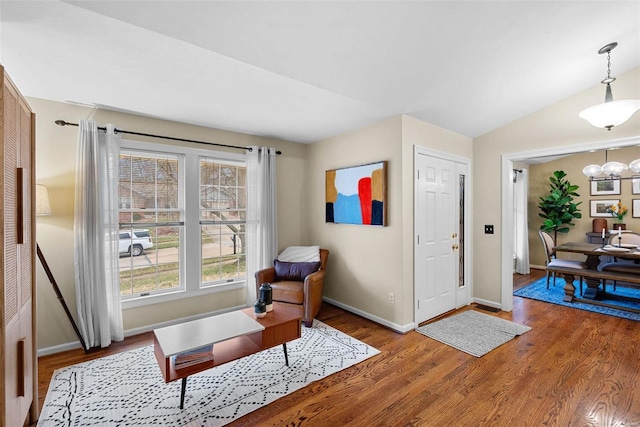
[[[598,271],[598,265],[600,264],[600,257],[615,257],[619,259],[632,260],[640,262],[640,249],[635,245],[602,245],[594,243],[583,242],[566,242],[557,245],[554,248],[557,252],[578,253],[586,255],[585,263],[588,269]],[[600,286],[600,279],[589,277],[588,273],[585,273],[585,282],[587,289],[585,289],[582,297],[584,299],[593,300],[598,293],[598,287]]]

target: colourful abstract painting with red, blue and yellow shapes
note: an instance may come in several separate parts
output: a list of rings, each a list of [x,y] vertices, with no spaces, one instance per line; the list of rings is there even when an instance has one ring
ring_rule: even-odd
[[[387,225],[387,162],[326,172],[326,222]]]

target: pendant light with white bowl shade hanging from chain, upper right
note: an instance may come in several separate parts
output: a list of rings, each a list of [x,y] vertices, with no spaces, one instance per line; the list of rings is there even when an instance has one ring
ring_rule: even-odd
[[[578,117],[585,119],[595,127],[611,130],[612,127],[621,125],[638,110],[640,110],[640,100],[629,99],[624,101],[614,101],[611,93],[611,83],[615,77],[611,77],[611,51],[618,46],[617,42],[609,43],[598,50],[599,54],[607,54],[607,77],[600,83],[606,84],[607,89],[604,103],[594,105],[582,110]]]

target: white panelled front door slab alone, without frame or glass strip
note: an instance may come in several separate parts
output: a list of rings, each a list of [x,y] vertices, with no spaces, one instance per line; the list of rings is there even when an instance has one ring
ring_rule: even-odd
[[[415,322],[419,324],[456,308],[460,181],[456,162],[420,153],[415,157]]]

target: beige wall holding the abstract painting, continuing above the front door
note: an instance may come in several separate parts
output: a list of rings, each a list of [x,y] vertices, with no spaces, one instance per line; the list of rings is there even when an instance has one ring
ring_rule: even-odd
[[[413,146],[471,157],[471,139],[396,116],[316,142],[307,177],[310,241],[331,251],[325,296],[396,330],[413,327]],[[325,222],[325,171],[386,160],[386,227]],[[395,302],[389,303],[389,293]]]

